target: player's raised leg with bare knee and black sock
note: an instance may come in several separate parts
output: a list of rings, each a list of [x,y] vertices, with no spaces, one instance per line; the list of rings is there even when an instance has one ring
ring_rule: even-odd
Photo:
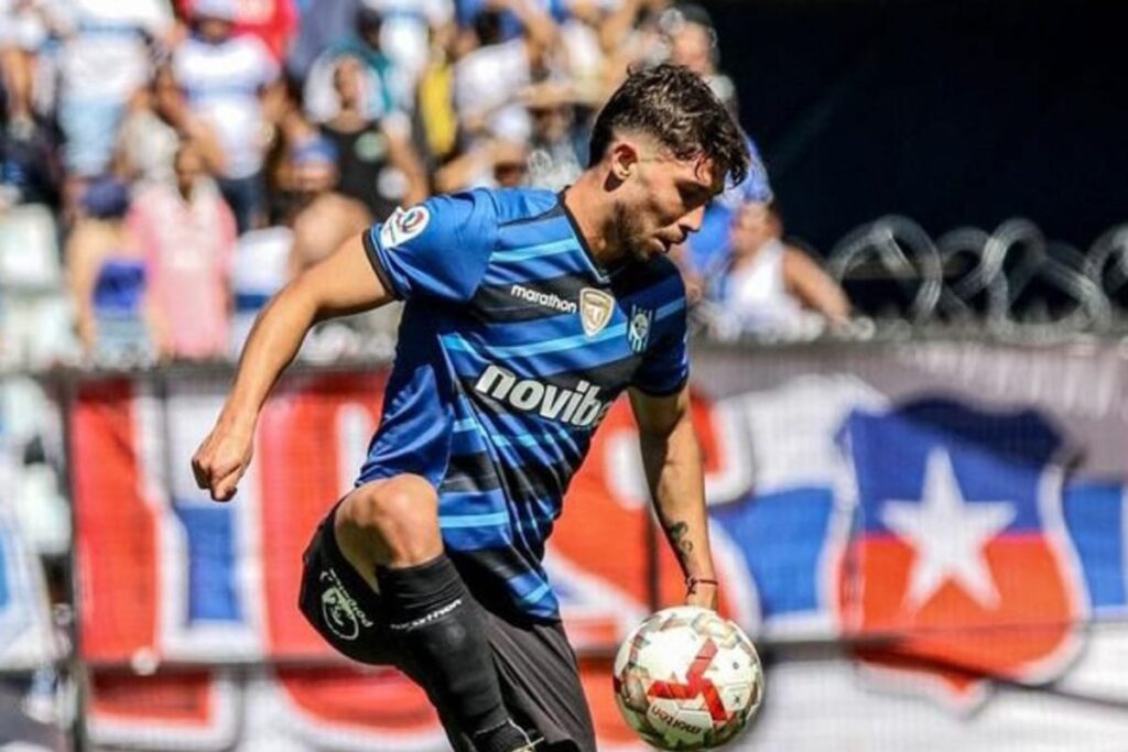
[[[478,752],[525,747],[502,701],[484,614],[443,551],[434,487],[412,475],[365,484],[337,507],[334,531],[344,557],[380,592],[389,629],[429,695]]]

